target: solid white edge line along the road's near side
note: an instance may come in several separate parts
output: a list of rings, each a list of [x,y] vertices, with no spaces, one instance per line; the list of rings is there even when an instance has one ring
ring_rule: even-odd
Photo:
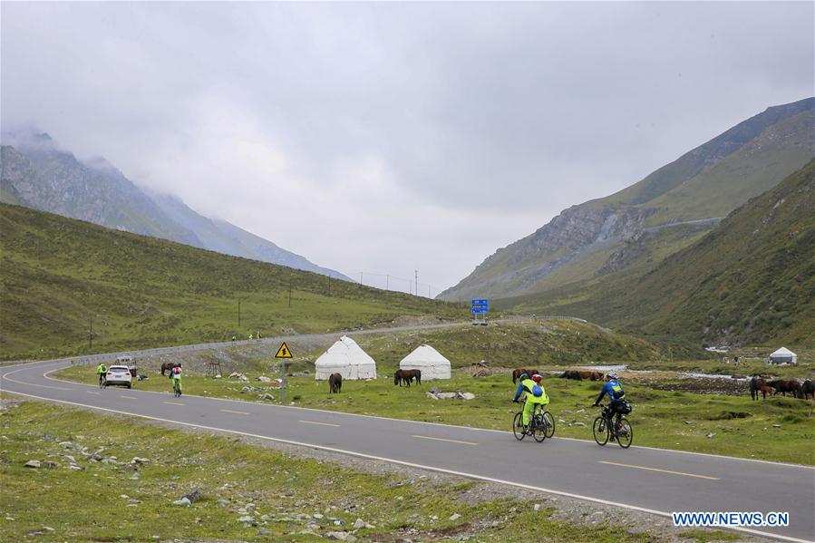
[[[247,436],[247,437],[250,437],[250,438],[257,438],[257,439],[260,439],[260,440],[276,441],[278,443],[287,443],[289,445],[298,445],[300,447],[310,447],[312,449],[318,449],[320,451],[338,452],[340,454],[347,454],[347,455],[350,455],[350,456],[356,456],[358,458],[365,458],[365,459],[368,459],[368,460],[386,461],[386,462],[391,462],[393,464],[400,464],[400,465],[403,465],[403,466],[408,466],[410,468],[419,468],[421,470],[431,470],[431,471],[437,471],[439,473],[448,473],[450,475],[458,475],[459,477],[466,477],[468,479],[486,480],[488,482],[495,482],[495,483],[499,483],[499,484],[509,485],[509,486],[512,486],[512,487],[518,487],[520,489],[537,490],[538,492],[548,492],[550,494],[555,494],[555,495],[558,495],[558,496],[566,496],[568,498],[585,499],[587,501],[593,501],[595,503],[602,503],[604,505],[621,507],[621,508],[624,508],[624,509],[632,509],[632,510],[635,510],[635,511],[643,511],[645,513],[651,513],[653,515],[659,515],[661,517],[667,517],[669,519],[672,518],[671,514],[666,513],[665,511],[657,511],[655,509],[641,508],[641,507],[638,507],[636,505],[628,505],[628,504],[625,504],[625,503],[619,503],[619,502],[616,502],[616,501],[609,501],[609,500],[606,500],[606,499],[592,498],[590,496],[582,496],[580,494],[572,494],[570,492],[564,492],[564,491],[561,491],[561,490],[545,489],[543,487],[536,487],[536,486],[532,486],[532,485],[523,484],[523,483],[520,483],[520,482],[513,482],[511,480],[494,479],[492,477],[486,477],[484,475],[476,475],[474,473],[466,473],[466,472],[463,472],[463,471],[455,471],[455,470],[445,470],[444,468],[434,468],[432,466],[426,466],[426,465],[423,465],[423,464],[416,464],[416,463],[413,463],[413,462],[399,461],[399,460],[394,460],[392,458],[385,458],[385,457],[382,457],[382,456],[374,456],[374,455],[371,455],[371,454],[364,454],[363,452],[345,451],[344,449],[335,449],[334,447],[325,447],[325,445],[316,445],[316,444],[312,444],[312,443],[304,443],[302,441],[284,440],[284,439],[281,439],[281,438],[273,438],[273,437],[269,437],[269,436],[266,436],[266,435],[258,435],[256,433],[249,433],[247,431],[227,430],[225,428],[217,428],[217,427],[214,427],[214,426],[205,426],[203,424],[194,424],[192,422],[170,421],[169,419],[162,419],[160,417],[152,417],[150,415],[142,415],[140,413],[132,413],[132,412],[126,412],[126,411],[119,411],[119,410],[116,410],[116,409],[108,409],[108,408],[105,408],[105,407],[97,407],[95,405],[87,405],[85,403],[67,402],[67,401],[64,401],[64,400],[52,400],[51,398],[44,398],[42,396],[35,396],[34,394],[26,394],[26,393],[15,393],[15,394],[19,394],[21,396],[28,396],[30,398],[37,398],[39,400],[44,400],[45,402],[65,403],[65,404],[68,404],[68,405],[75,405],[75,406],[78,406],[78,407],[87,407],[87,408],[90,408],[92,410],[114,412],[114,413],[119,413],[119,414],[122,414],[122,415],[130,415],[130,416],[133,416],[133,417],[139,417],[141,419],[149,419],[149,420],[152,420],[152,421],[169,422],[170,424],[179,424],[180,426],[189,426],[191,428],[200,428],[202,430],[223,431],[223,432],[227,432],[227,433],[234,433],[234,434],[238,434],[238,435],[244,435],[244,436]],[[789,536],[781,536],[779,534],[773,534],[773,533],[770,533],[770,532],[762,532],[760,530],[751,529],[751,528],[739,528],[739,527],[731,528],[731,527],[728,527],[726,529],[732,529],[732,530],[741,531],[741,532],[744,532],[744,533],[755,534],[755,535],[759,535],[759,536],[762,536],[762,537],[765,537],[765,538],[775,538],[775,539],[781,539],[783,541],[794,541],[795,543],[811,543],[811,541],[807,541],[806,539],[791,538]]]

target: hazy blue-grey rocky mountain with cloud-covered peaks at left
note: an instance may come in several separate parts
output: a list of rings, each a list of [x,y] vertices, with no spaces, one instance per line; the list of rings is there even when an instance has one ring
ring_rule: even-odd
[[[226,221],[203,217],[177,198],[142,190],[107,160],[77,160],[47,134],[4,140],[15,145],[0,149],[0,201],[350,281]]]

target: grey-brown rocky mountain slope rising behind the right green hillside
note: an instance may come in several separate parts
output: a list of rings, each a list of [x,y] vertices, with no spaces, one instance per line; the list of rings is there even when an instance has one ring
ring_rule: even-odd
[[[439,298],[543,292],[624,268],[615,255],[655,229],[712,228],[815,156],[813,122],[815,98],[768,108],[631,187],[564,210],[527,238],[500,248]],[[674,238],[674,250],[688,241]]]

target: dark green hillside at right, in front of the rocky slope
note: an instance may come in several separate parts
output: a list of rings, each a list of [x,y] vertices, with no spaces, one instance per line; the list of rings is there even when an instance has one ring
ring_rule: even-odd
[[[502,304],[697,344],[812,346],[815,160],[692,246],[632,270]]]

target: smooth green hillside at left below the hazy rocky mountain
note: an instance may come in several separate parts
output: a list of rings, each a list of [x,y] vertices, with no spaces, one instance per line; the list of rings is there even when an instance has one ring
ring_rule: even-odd
[[[461,305],[0,205],[4,359],[325,332]],[[289,306],[291,288],[291,306]],[[329,291],[330,288],[330,291]],[[238,300],[240,325],[238,326]]]

